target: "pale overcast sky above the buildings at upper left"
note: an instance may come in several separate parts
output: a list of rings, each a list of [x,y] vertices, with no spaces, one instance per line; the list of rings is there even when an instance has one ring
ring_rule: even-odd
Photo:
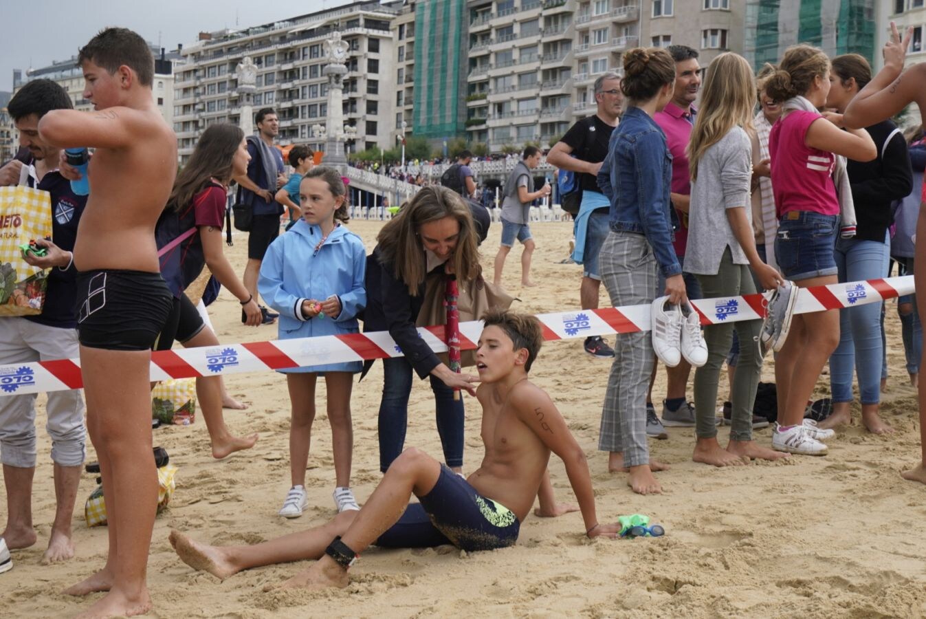
[[[78,47],[106,26],[131,28],[170,50],[178,43],[194,43],[200,31],[257,26],[348,1],[0,0],[0,6],[7,9],[0,30],[0,91],[13,89],[13,69],[38,69],[74,56]]]

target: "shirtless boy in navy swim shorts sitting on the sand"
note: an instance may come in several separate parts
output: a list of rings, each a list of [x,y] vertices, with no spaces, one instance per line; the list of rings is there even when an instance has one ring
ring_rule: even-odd
[[[566,464],[588,537],[616,537],[618,524],[599,524],[585,454],[543,389],[527,373],[543,341],[532,316],[490,311],[476,351],[482,385],[482,442],[478,471],[464,480],[416,448],[406,449],[386,471],[359,512],[341,512],[327,524],[255,546],[206,546],[173,531],[170,543],[183,562],[228,578],[279,562],[318,559],[283,587],[346,587],[347,568],[371,544],[421,548],[453,544],[493,550],[518,539],[520,523],[540,496],[538,515],[575,507],[553,503],[546,474],[550,452]],[[411,495],[420,503],[408,504]],[[433,524],[432,524],[433,523]]]

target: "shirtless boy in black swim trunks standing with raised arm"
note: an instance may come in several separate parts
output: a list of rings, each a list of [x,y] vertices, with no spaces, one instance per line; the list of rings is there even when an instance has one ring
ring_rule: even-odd
[[[44,141],[90,146],[93,191],[74,245],[87,427],[106,490],[106,566],[66,593],[108,590],[83,616],[151,608],[145,584],[157,504],[151,445],[151,347],[171,306],[159,273],[155,223],[177,171],[177,139],[154,104],[154,57],[144,39],[108,28],[78,61],[95,111],[54,110]]]

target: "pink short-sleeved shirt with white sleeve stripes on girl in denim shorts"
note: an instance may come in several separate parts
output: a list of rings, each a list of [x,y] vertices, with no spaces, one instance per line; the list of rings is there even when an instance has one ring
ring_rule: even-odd
[[[792,210],[839,214],[839,200],[832,183],[836,158],[804,143],[807,129],[819,118],[817,112],[794,110],[771,128],[771,189],[778,217]]]

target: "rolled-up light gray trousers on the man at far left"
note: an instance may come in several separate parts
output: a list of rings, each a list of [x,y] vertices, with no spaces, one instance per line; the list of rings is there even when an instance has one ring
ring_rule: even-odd
[[[80,354],[77,329],[50,327],[24,318],[0,318],[0,365],[39,360],[74,359]],[[0,396],[0,461],[31,469],[36,463],[35,394]],[[80,389],[48,392],[46,429],[52,461],[80,466],[85,453]]]

